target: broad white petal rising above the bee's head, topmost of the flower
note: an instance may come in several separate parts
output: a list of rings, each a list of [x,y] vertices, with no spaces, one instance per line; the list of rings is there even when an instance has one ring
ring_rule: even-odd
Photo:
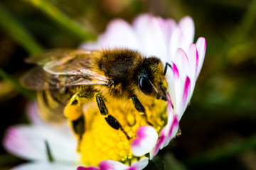
[[[159,20],[151,15],[141,15],[133,23],[137,37],[142,44],[142,53],[157,56],[167,61],[167,45]]]

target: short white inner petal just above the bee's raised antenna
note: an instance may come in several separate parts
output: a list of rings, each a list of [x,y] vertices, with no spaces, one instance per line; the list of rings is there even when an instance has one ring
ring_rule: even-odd
[[[173,60],[174,56],[176,54],[176,50],[178,48],[183,49],[186,51],[188,49],[188,42],[186,42],[186,38],[184,37],[181,28],[176,27],[171,34],[171,40],[169,44],[169,57],[171,57],[169,60]]]

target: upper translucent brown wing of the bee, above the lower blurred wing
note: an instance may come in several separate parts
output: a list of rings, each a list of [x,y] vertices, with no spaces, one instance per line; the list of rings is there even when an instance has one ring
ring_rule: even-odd
[[[102,77],[92,71],[92,62],[97,57],[97,51],[92,50],[49,50],[26,60],[29,63],[41,65],[50,74],[80,75]]]

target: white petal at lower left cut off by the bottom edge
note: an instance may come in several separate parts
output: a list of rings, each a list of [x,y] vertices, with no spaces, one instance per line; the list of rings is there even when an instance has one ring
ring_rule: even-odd
[[[33,162],[18,165],[11,170],[75,170],[78,165],[50,162]]]

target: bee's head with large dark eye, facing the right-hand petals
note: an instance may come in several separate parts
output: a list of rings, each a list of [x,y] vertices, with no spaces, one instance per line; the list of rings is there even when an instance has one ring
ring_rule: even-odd
[[[139,72],[138,86],[143,94],[166,101],[167,83],[164,66],[156,57],[145,58]]]

